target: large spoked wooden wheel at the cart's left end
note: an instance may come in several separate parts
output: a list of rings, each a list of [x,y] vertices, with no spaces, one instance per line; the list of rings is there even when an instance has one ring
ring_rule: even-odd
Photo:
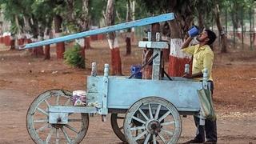
[[[26,114],[26,128],[35,143],[79,143],[89,126],[88,114],[68,114],[68,124],[50,124],[49,106],[73,106],[72,93],[48,90],[34,99]]]

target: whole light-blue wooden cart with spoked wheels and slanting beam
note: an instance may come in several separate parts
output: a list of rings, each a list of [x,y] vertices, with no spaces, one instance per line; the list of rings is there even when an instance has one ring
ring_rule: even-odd
[[[163,15],[153,17],[156,19],[154,21],[150,18],[135,21],[130,27],[174,18],[173,14]],[[144,23],[135,25],[138,22]],[[123,26],[129,27],[129,23]],[[117,27],[118,30],[124,28],[120,24],[114,27],[93,32],[99,34],[106,30],[117,30]],[[25,48],[74,38],[81,38],[81,35],[36,42]],[[151,79],[111,76],[108,64],[105,64],[104,74],[98,75],[97,64],[93,62],[91,75],[87,77],[86,106],[73,106],[72,92],[68,90],[47,90],[30,104],[26,124],[33,141],[79,143],[86,136],[90,114],[100,114],[102,121],[106,120],[107,114],[111,114],[111,126],[123,142],[177,143],[182,132],[180,115],[200,115],[197,90],[207,88],[207,72],[202,82],[181,77],[163,77],[161,51],[168,47],[168,43],[161,42],[159,33],[156,34],[155,42],[139,42],[138,47],[154,51],[151,57]]]

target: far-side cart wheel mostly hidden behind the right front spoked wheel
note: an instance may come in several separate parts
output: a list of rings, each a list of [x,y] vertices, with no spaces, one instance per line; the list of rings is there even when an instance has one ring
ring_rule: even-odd
[[[126,142],[125,134],[123,134],[123,120],[125,119],[125,114],[111,114],[111,126],[114,130],[114,134],[118,136],[118,138],[122,142]]]

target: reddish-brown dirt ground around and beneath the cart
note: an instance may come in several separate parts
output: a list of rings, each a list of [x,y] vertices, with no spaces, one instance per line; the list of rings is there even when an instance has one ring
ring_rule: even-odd
[[[26,130],[26,111],[38,94],[61,88],[85,90],[90,63],[98,63],[102,74],[104,63],[110,63],[106,41],[91,42],[86,50],[86,70],[67,66],[53,53],[50,60],[33,58],[28,51],[7,50],[0,45],[0,143],[34,143]],[[125,55],[120,44],[123,74],[130,75],[130,66],[141,63],[142,50],[133,43],[132,54]],[[228,54],[215,54],[214,106],[218,114],[218,143],[256,143],[256,47],[254,50],[229,48]],[[179,142],[194,138],[191,116],[182,118]],[[82,143],[121,143],[110,126],[96,115]]]

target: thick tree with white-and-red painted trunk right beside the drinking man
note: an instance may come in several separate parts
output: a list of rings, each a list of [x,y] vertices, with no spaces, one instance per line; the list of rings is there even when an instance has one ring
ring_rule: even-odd
[[[171,76],[182,76],[185,64],[190,62],[190,56],[182,54],[180,48],[183,38],[189,30],[194,19],[194,11],[191,1],[178,0],[139,0],[138,3],[152,14],[163,14],[172,12],[175,19],[168,22],[170,27],[170,56],[169,70]]]

